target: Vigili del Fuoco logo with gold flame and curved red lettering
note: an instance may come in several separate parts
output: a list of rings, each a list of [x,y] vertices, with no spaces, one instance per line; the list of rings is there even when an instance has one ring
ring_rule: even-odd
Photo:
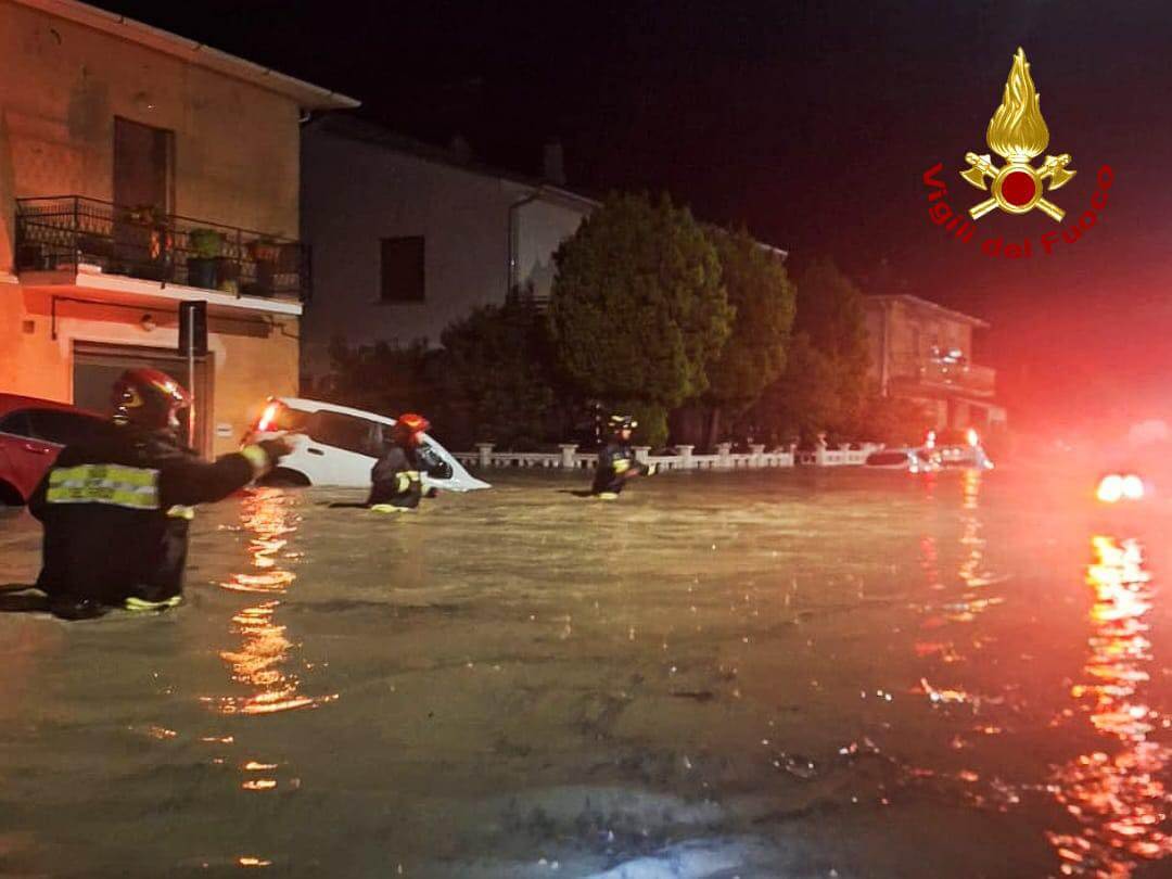
[[[977,220],[999,207],[1013,214],[1029,213],[1036,209],[1061,223],[1067,212],[1047,196],[1068,184],[1078,172],[1071,168],[1074,159],[1069,152],[1047,155],[1041,166],[1034,166],[1034,159],[1045,152],[1050,144],[1050,130],[1042,118],[1041,95],[1029,75],[1024,49],[1018,48],[1014,55],[1004,96],[989,120],[984,138],[989,150],[1004,159],[1004,164],[1000,168],[994,164],[989,152],[968,152],[965,161],[969,169],[961,171],[960,177],[969,185],[988,192],[989,197],[969,207],[966,219],[945,200],[948,185],[940,179],[943,163],[938,162],[924,172],[924,184],[928,188],[928,219],[950,232],[962,244],[972,243]],[[1043,233],[1037,241],[1036,252],[1049,257],[1059,241],[1075,244],[1089,232],[1106,207],[1113,180],[1115,172],[1110,165],[1099,168],[1090,207],[1059,230]],[[984,239],[981,252],[987,257],[1029,259],[1035,248],[1030,238],[1006,241],[999,236]]]

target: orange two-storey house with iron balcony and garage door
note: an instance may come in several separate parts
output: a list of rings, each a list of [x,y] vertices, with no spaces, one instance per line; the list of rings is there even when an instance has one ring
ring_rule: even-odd
[[[236,448],[298,389],[300,121],[357,102],[74,0],[0,0],[0,391],[105,410],[130,366],[188,383],[177,312],[203,300],[195,440]]]

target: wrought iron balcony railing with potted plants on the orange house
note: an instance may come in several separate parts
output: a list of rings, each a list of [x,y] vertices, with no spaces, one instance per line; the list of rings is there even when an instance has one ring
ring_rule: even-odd
[[[16,271],[97,271],[305,301],[300,241],[80,196],[16,199]],[[90,268],[90,267],[96,268]]]

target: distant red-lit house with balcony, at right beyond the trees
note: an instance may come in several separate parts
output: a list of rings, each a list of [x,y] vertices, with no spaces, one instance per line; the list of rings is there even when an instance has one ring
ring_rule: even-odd
[[[865,297],[871,377],[884,396],[921,403],[938,428],[997,429],[996,370],[973,362],[979,318],[912,295]]]

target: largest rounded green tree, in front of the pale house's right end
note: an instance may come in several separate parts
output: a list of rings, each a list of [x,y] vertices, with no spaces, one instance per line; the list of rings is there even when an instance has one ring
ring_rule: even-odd
[[[666,441],[667,408],[708,388],[731,329],[716,250],[666,196],[613,196],[558,248],[550,328],[586,396],[645,408]]]

